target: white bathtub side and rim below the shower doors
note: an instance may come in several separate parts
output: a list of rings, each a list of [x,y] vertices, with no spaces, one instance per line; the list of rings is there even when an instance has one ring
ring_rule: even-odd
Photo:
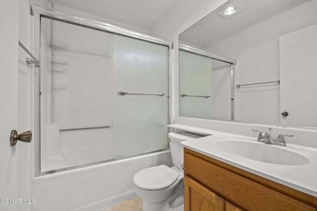
[[[31,210],[97,211],[135,197],[133,175],[160,164],[172,166],[169,150],[34,177]]]

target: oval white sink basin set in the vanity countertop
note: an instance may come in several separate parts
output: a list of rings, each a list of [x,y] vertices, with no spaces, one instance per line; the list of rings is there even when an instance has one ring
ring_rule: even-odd
[[[222,140],[214,143],[214,147],[231,155],[255,161],[278,165],[305,165],[309,159],[285,147],[264,144],[260,142]]]

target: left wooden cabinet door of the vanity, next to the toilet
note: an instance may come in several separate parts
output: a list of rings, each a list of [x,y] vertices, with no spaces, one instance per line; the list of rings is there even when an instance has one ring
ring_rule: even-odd
[[[185,176],[185,211],[224,211],[225,201],[215,193]]]

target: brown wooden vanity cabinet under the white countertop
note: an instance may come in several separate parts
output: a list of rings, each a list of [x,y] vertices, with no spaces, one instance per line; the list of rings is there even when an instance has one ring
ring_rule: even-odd
[[[185,211],[316,211],[317,198],[184,148]]]

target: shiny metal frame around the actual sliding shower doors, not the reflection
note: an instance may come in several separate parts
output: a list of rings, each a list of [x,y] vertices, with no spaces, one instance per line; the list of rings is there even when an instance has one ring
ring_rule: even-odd
[[[35,16],[35,41],[40,41],[40,34],[41,34],[41,18],[49,18],[52,20],[56,20],[56,21],[62,21],[65,23],[69,23],[69,24],[74,24],[74,25],[78,25],[81,27],[86,27],[86,28],[90,28],[93,30],[98,30],[98,31],[102,31],[102,32],[106,32],[106,33],[113,33],[113,34],[119,34],[119,35],[124,35],[127,37],[131,37],[131,38],[136,38],[136,39],[140,39],[143,41],[148,41],[151,43],[155,43],[155,44],[159,44],[159,45],[163,45],[163,46],[168,46],[169,47],[169,77],[168,77],[168,92],[169,92],[169,96],[171,96],[172,94],[172,42],[170,41],[165,41],[147,34],[142,34],[139,32],[135,32],[129,29],[125,29],[125,28],[121,28],[118,26],[114,26],[111,24],[107,24],[101,21],[96,21],[93,19],[89,19],[89,18],[81,18],[81,17],[76,17],[76,16],[71,16],[71,15],[67,15],[65,13],[56,11],[54,9],[49,9],[49,8],[43,8],[40,6],[34,6],[34,16]],[[40,42],[34,42],[35,43],[35,55],[38,57],[41,57],[41,48],[40,48]],[[41,60],[41,59],[40,59]],[[40,73],[35,74],[35,79],[34,81],[40,80]],[[87,164],[82,164],[82,165],[76,165],[76,166],[71,166],[71,167],[65,167],[65,168],[61,168],[61,169],[56,169],[56,170],[52,170],[52,171],[46,171],[46,172],[41,172],[41,123],[40,123],[40,83],[38,83],[38,87],[37,84],[34,82],[34,134],[35,137],[38,137],[38,142],[35,143],[34,146],[34,176],[43,176],[45,174],[50,174],[50,173],[54,173],[54,172],[62,172],[62,171],[66,171],[66,170],[71,170],[71,169],[77,169],[77,168],[83,168],[83,167],[87,167],[87,166],[91,166],[91,165],[96,165],[96,164],[100,164],[100,163],[104,163],[104,162],[109,162],[109,161],[113,161],[113,160],[117,160],[117,159],[124,159],[124,158],[131,158],[131,157],[135,157],[135,156],[140,156],[140,155],[146,155],[146,154],[152,154],[155,152],[160,152],[160,151],[166,151],[167,149],[162,149],[162,150],[156,150],[156,151],[152,151],[152,152],[147,152],[147,153],[142,153],[142,154],[138,154],[138,155],[132,155],[132,156],[126,156],[123,158],[113,158],[113,159],[108,159],[108,160],[101,160],[98,162],[92,162],[92,163],[87,163]],[[168,114],[168,122],[167,124],[170,124],[172,122],[172,118],[173,118],[173,109],[172,109],[172,100],[169,97],[169,114]],[[166,141],[167,141],[167,137],[166,137]],[[37,159],[38,158],[38,159]]]

